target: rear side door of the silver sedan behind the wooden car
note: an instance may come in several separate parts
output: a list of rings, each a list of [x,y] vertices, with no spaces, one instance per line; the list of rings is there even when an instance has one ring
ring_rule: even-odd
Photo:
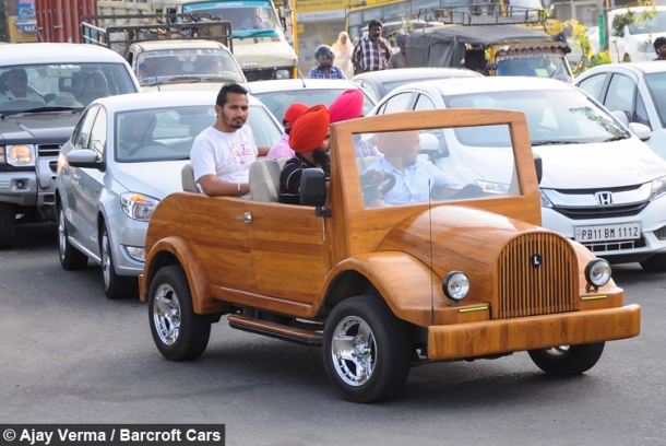
[[[72,133],[71,151],[64,153],[66,156],[69,153],[87,148],[91,130],[98,111],[99,107],[91,107],[81,117]],[[70,166],[67,163],[63,164],[62,168],[64,216],[72,225],[70,235],[81,239],[83,234],[87,233],[87,230],[85,228],[86,225],[81,214],[82,203],[79,202],[79,199],[82,196],[81,168]]]

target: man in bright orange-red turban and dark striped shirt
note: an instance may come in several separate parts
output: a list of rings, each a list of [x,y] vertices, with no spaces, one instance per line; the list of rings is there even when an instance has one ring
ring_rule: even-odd
[[[289,145],[296,152],[280,174],[280,202],[300,204],[300,175],[306,168],[321,168],[331,175],[329,157],[329,109],[316,105],[304,113],[289,133]],[[328,189],[326,183],[326,189]]]

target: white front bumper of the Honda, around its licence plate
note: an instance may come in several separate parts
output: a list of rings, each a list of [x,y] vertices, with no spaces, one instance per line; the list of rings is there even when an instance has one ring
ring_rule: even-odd
[[[614,219],[571,220],[549,208],[542,208],[542,225],[552,230],[567,238],[574,239],[576,226],[599,226],[606,224],[641,222],[641,238],[635,240],[582,243],[597,257],[610,262],[614,259],[621,261],[640,261],[653,254],[666,253],[666,239],[659,239],[661,228],[666,235],[666,197],[662,197],[645,207],[639,214]]]

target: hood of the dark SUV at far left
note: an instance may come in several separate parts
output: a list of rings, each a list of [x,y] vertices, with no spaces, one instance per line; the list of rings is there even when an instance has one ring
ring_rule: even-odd
[[[0,119],[0,138],[5,143],[66,142],[79,118],[81,114],[72,111],[11,115]]]

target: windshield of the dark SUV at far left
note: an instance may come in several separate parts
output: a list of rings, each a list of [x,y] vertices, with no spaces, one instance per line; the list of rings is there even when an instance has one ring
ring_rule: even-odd
[[[98,97],[135,93],[121,63],[0,67],[0,110],[81,109]]]

